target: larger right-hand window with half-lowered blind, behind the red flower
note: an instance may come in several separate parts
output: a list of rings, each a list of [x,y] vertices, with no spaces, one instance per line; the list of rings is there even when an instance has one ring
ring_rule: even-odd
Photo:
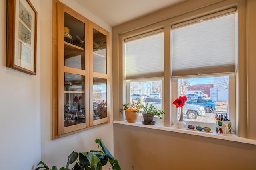
[[[183,115],[190,124],[214,127],[214,113],[235,117],[229,107],[229,102],[234,104],[230,93],[235,81],[230,79],[235,77],[235,18],[230,9],[172,26],[173,100],[187,95]],[[173,123],[178,116],[172,116]]]

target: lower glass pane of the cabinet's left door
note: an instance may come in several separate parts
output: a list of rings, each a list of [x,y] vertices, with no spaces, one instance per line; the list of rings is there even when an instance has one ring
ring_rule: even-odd
[[[85,76],[64,75],[64,125],[65,127],[85,123]]]

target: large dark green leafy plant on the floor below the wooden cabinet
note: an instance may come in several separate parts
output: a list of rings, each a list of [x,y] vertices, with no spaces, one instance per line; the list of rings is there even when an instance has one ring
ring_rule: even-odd
[[[91,150],[90,152],[80,152],[79,154],[73,151],[68,156],[66,168],[62,167],[59,170],[70,170],[69,165],[76,161],[76,164],[71,170],[101,170],[102,166],[106,165],[108,162],[113,170],[121,170],[118,161],[110,154],[102,140],[96,139],[95,142],[98,143],[97,151]],[[99,147],[101,147],[102,150],[99,150]],[[35,170],[58,170],[56,166],[53,166],[50,169],[42,161],[40,161],[38,165],[40,165],[40,167],[36,168]]]

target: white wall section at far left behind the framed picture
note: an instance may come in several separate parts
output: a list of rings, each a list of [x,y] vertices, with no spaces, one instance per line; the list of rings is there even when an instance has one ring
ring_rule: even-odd
[[[30,0],[38,12],[40,2]],[[41,157],[40,34],[37,75],[6,67],[6,0],[0,1],[0,169],[32,170]],[[40,23],[38,23],[40,31]]]

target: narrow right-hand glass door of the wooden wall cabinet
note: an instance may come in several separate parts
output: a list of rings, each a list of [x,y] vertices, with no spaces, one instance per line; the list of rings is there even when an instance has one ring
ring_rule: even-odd
[[[90,22],[90,125],[110,121],[109,113],[109,33]]]

